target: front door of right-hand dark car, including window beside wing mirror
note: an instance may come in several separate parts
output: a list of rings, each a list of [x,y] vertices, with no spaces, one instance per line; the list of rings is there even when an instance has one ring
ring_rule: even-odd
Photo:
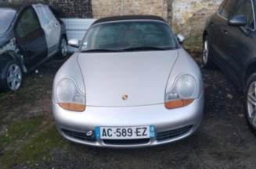
[[[229,38],[225,55],[228,56],[226,60],[231,65],[235,77],[243,79],[243,65],[246,65],[245,62],[254,55],[251,54],[251,49],[255,48],[251,47],[251,44],[255,44],[254,38],[251,36],[251,33],[254,33],[255,30],[253,2],[251,0],[240,0],[233,16],[238,15],[246,16],[247,25],[226,27]]]

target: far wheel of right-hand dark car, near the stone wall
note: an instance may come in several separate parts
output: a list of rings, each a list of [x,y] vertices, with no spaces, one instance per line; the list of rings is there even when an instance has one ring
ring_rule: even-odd
[[[202,60],[205,69],[215,69],[216,65],[213,61],[211,53],[211,38],[206,36],[204,37],[203,51],[202,51]]]

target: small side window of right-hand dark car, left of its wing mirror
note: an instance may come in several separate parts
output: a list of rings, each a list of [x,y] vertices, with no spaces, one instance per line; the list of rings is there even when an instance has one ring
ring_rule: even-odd
[[[238,0],[227,0],[223,8],[219,11],[219,14],[226,19],[229,19],[233,15],[233,11],[236,8]]]

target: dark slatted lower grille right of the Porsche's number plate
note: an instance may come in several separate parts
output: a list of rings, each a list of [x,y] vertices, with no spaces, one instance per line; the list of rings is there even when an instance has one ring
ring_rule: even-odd
[[[165,139],[173,139],[178,136],[182,136],[193,128],[193,125],[189,125],[180,129],[169,130],[166,132],[158,132],[157,133],[157,141],[163,141]]]

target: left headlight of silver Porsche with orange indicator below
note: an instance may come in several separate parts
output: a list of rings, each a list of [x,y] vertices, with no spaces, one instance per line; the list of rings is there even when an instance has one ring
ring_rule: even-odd
[[[57,102],[69,111],[85,111],[85,95],[78,90],[73,79],[62,79],[56,88]]]

